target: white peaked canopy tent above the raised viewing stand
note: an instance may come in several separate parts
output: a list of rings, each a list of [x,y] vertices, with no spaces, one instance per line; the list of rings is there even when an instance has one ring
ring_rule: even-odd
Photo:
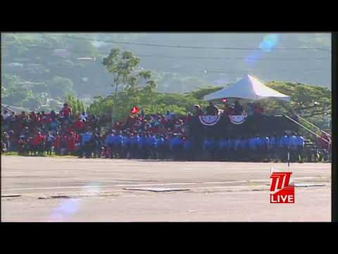
[[[223,98],[239,98],[249,100],[259,99],[282,99],[289,101],[290,97],[283,95],[270,87],[265,86],[257,78],[253,78],[251,75],[246,75],[242,80],[237,83],[225,87],[217,92],[213,92],[210,95],[204,96],[204,100],[211,101],[214,99]]]

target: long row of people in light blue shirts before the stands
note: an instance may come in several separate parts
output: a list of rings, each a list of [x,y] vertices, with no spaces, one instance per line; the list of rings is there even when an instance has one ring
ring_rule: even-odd
[[[304,161],[305,140],[301,135],[254,135],[238,138],[204,138],[202,142],[184,135],[151,135],[149,133],[113,133],[104,140],[102,157],[127,159],[218,159],[240,161]],[[81,154],[91,157],[89,146]],[[101,157],[100,156],[100,157]]]

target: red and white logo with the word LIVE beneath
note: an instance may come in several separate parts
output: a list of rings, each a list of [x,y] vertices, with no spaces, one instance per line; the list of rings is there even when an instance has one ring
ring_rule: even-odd
[[[271,174],[270,203],[294,203],[294,185],[289,185],[292,172]]]

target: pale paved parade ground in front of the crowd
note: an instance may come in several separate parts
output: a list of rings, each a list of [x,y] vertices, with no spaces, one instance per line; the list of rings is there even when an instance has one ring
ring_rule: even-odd
[[[287,164],[273,163],[1,156],[1,220],[331,220],[330,163],[290,165],[294,204],[270,204],[271,167],[287,170]]]

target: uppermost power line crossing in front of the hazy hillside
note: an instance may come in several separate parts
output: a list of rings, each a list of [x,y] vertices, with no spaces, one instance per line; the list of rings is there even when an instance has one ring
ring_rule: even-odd
[[[254,47],[203,47],[203,46],[183,46],[183,45],[165,45],[165,44],[149,44],[149,43],[141,43],[141,42],[120,42],[115,40],[98,40],[98,39],[90,39],[90,38],[84,38],[84,37],[74,37],[65,35],[65,37],[68,37],[70,39],[75,40],[91,40],[95,42],[106,42],[106,43],[115,43],[115,44],[130,44],[130,45],[139,45],[139,46],[147,46],[147,47],[170,47],[170,48],[181,48],[181,49],[230,49],[230,50],[255,50],[260,48],[254,48]],[[276,47],[275,49],[278,50],[319,50],[319,51],[325,51],[330,52],[330,49],[324,49],[320,47]]]

